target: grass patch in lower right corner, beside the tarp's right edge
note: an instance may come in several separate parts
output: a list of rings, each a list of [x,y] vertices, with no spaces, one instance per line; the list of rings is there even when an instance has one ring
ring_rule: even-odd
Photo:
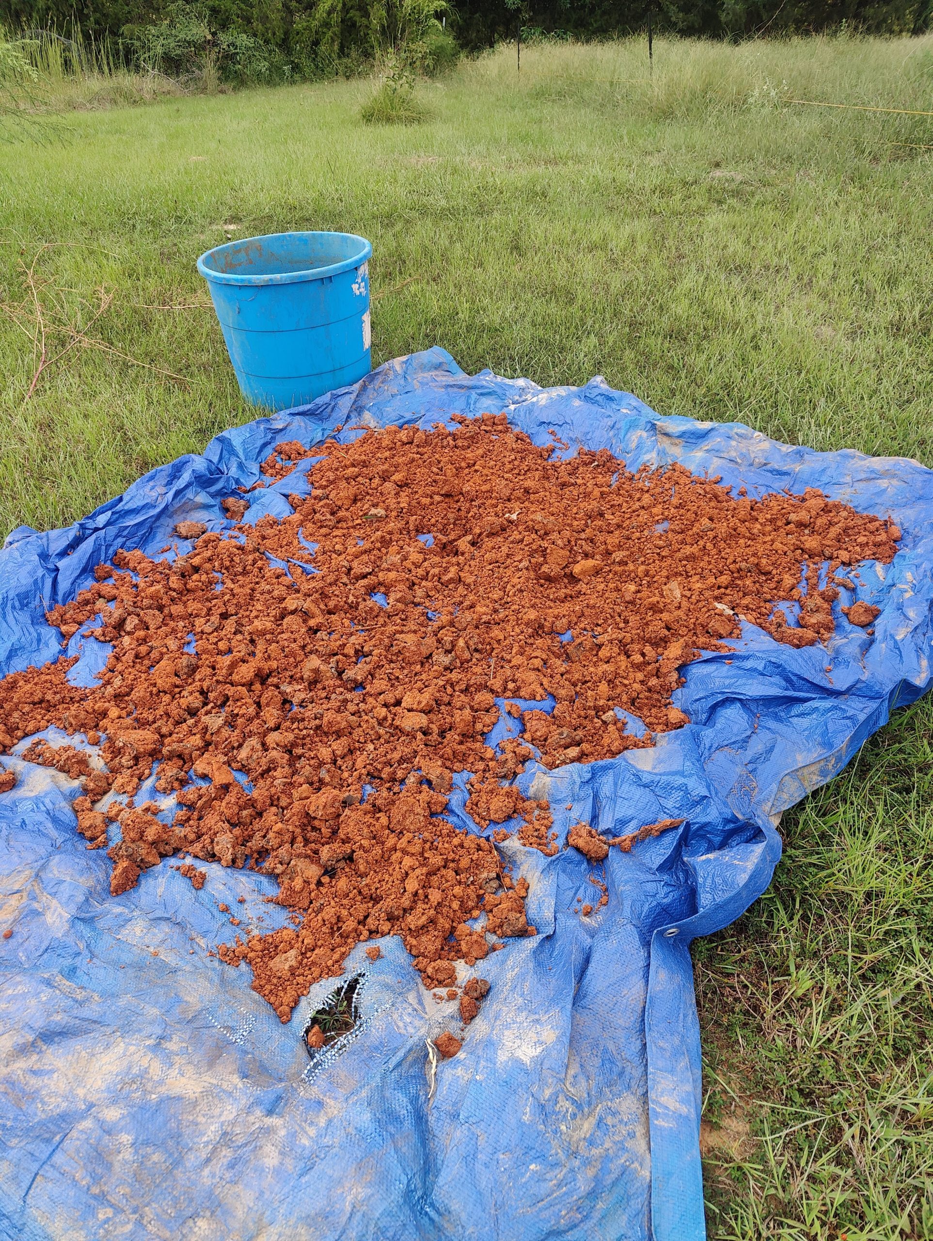
[[[933,1236],[933,704],[787,814],[694,947],[712,1237]]]

